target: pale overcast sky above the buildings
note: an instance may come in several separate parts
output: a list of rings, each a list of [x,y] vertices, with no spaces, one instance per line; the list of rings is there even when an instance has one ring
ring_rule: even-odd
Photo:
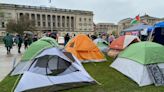
[[[164,18],[164,0],[51,0],[51,3],[49,0],[0,0],[0,3],[89,10],[94,13],[95,23],[117,23],[145,13]]]

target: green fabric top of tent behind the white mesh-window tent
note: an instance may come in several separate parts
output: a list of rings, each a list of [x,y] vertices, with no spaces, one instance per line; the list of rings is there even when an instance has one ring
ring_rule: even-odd
[[[32,43],[24,53],[21,61],[29,61],[36,57],[41,51],[51,47],[59,47],[58,43],[50,37],[43,37]]]

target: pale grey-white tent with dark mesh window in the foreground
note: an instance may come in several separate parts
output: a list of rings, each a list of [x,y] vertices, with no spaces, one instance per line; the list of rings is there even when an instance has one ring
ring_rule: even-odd
[[[11,76],[18,74],[22,76],[14,92],[54,92],[96,83],[76,57],[55,47],[21,61]]]

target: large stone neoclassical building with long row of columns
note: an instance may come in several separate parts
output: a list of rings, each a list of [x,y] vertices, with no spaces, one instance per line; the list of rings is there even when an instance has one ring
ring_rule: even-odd
[[[15,4],[0,4],[0,34],[4,35],[10,19],[16,21],[23,15],[35,21],[39,33],[56,31],[59,33],[92,33],[93,12],[82,10],[59,9]],[[26,31],[26,30],[24,30]]]

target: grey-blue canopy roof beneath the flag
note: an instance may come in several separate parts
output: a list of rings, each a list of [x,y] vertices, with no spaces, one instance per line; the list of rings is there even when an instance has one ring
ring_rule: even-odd
[[[152,27],[152,26],[141,23],[141,24],[137,24],[132,27],[129,27],[129,28],[123,30],[123,32],[142,31],[143,29],[146,29],[149,27]]]

